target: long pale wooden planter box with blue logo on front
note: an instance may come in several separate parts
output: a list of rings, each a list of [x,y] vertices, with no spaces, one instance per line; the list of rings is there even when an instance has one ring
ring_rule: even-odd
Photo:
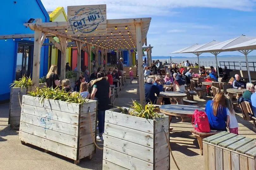
[[[73,159],[76,164],[84,157],[91,159],[96,147],[88,115],[91,115],[95,138],[96,104],[94,100],[77,104],[24,95],[19,139],[21,143]]]

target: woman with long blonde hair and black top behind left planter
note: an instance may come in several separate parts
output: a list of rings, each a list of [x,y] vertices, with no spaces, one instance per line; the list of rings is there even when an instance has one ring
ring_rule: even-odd
[[[57,65],[51,65],[49,72],[46,74],[46,85],[49,88],[55,89],[60,85],[59,77],[57,74],[58,67]]]

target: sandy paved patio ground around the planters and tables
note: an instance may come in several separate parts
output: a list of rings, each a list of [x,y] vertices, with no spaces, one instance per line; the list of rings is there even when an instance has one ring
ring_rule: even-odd
[[[131,99],[139,100],[137,94],[138,84],[132,85],[127,81],[125,88],[116,98],[115,106],[127,106]],[[205,107],[205,101],[210,97],[197,99],[198,106]],[[9,103],[0,104],[0,169],[102,169],[102,150],[97,149],[92,160],[83,159],[79,165],[73,161],[54,153],[44,153],[43,149],[33,145],[22,145],[18,139],[18,131],[10,130],[8,126]],[[239,133],[246,137],[256,138],[251,129],[252,122],[243,120],[241,114],[237,114],[239,122]],[[203,156],[199,155],[197,140],[191,135],[193,128],[190,122],[181,122],[179,118],[173,117],[171,126],[173,132],[170,134],[170,144],[174,157],[180,169],[199,170],[203,169],[201,161]],[[98,142],[99,143],[99,142]],[[102,142],[99,143],[102,146]],[[171,169],[176,169],[171,158]]]

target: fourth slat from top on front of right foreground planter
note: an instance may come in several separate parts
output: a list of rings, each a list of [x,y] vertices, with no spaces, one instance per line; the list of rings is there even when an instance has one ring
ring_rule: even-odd
[[[152,163],[143,161],[141,159],[137,159],[135,157],[123,154],[121,152],[117,152],[109,148],[103,149],[103,160],[108,160],[114,164],[117,164],[121,167],[125,167],[127,169],[153,169]]]

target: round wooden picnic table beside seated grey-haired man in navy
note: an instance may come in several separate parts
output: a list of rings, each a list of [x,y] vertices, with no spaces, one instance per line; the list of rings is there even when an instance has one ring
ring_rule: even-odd
[[[170,98],[170,100],[173,98],[177,101],[178,104],[183,104],[183,98],[186,97],[186,93],[180,93],[180,92],[174,92],[174,91],[162,91],[159,94],[159,97],[157,99],[157,103],[160,104],[163,101],[163,97]]]

